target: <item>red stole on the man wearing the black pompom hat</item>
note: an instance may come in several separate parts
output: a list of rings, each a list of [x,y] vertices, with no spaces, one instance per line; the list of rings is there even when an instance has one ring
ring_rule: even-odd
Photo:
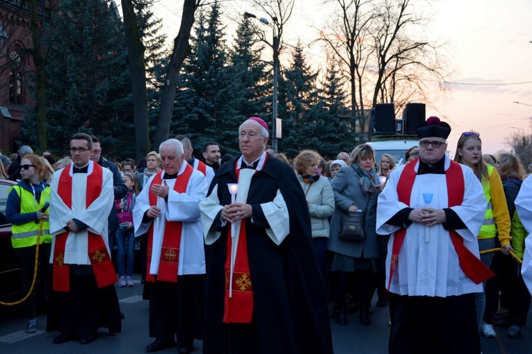
[[[410,205],[410,194],[412,194],[412,187],[414,186],[414,180],[416,179],[417,173],[415,171],[415,166],[417,165],[417,160],[408,163],[403,169],[401,177],[397,183],[397,194],[398,199],[401,203]],[[445,171],[446,185],[447,185],[447,196],[449,198],[449,208],[462,204],[464,200],[465,185],[464,185],[464,174],[462,172],[462,167],[460,164],[455,161],[451,161],[451,166],[447,171]],[[392,248],[392,260],[390,262],[390,271],[389,271],[389,281],[388,281],[388,290],[392,284],[392,278],[394,276],[394,271],[397,267],[397,262],[399,258],[399,251],[401,251],[401,246],[405,240],[406,229],[401,228],[397,230],[394,234],[394,245]],[[494,273],[486,267],[486,265],[479,260],[476,255],[471,253],[466,246],[464,246],[464,239],[458,235],[455,230],[449,230],[449,235],[451,236],[451,241],[455,248],[456,253],[458,254],[458,262],[460,262],[460,268],[471,280],[476,284],[482,283],[483,281],[494,276]]]

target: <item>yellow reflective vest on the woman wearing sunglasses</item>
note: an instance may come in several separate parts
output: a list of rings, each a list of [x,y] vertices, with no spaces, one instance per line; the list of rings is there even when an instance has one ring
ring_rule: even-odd
[[[15,189],[15,192],[20,198],[20,214],[29,214],[30,212],[37,212],[38,210],[42,209],[42,207],[47,201],[50,201],[49,186],[46,186],[45,189],[42,189],[42,192],[40,194],[40,203],[37,203],[35,201],[33,193],[29,192],[29,190],[15,185],[11,187],[9,192],[11,192],[13,189]],[[39,233],[39,228],[41,227],[40,224],[40,221],[37,224],[35,224],[35,221],[30,221],[29,223],[22,225],[12,225],[11,244],[13,244],[13,248],[29,247],[37,244],[37,235]],[[42,244],[42,242],[51,242],[50,226],[48,221],[42,223],[42,231],[40,235],[39,244]]]

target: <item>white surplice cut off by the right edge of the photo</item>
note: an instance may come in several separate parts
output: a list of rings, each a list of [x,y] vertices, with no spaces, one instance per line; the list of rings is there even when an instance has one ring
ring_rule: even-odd
[[[532,175],[528,176],[522,183],[519,194],[515,199],[515,208],[521,219],[526,232],[529,235],[524,240],[524,257],[521,266],[521,274],[523,276],[526,287],[532,294]]]

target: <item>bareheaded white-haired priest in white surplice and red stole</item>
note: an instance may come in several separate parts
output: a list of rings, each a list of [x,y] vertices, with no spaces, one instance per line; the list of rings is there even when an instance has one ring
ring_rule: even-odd
[[[150,294],[150,337],[147,352],[175,346],[192,353],[201,339],[205,255],[199,203],[207,179],[184,161],[179,140],[161,143],[163,170],[147,181],[133,210],[135,235],[148,233],[147,276]]]

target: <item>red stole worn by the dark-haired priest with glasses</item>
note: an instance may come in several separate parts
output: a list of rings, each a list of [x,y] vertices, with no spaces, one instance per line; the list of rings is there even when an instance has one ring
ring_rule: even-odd
[[[87,175],[87,192],[85,196],[86,208],[88,208],[93,201],[95,201],[102,193],[103,171],[102,167],[97,163],[92,163],[92,173]],[[70,176],[70,165],[63,169],[61,176],[59,176],[59,183],[57,187],[57,194],[63,200],[63,203],[68,208],[72,209],[72,176]],[[104,238],[106,235],[97,235],[88,232],[88,256],[92,271],[94,271],[96,283],[98,287],[106,287],[118,281],[115,269],[111,263],[111,257],[105,246]],[[54,246],[54,260],[52,262],[53,269],[53,285],[52,288],[56,292],[70,291],[70,269],[69,264],[65,264],[65,246],[67,243],[70,231],[65,231],[56,236],[56,244]],[[73,235],[72,237],[76,237]]]

